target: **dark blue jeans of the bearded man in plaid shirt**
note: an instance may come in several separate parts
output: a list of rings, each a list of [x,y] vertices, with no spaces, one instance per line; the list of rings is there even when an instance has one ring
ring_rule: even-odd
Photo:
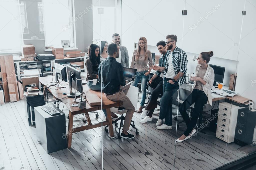
[[[164,124],[167,126],[172,125],[172,116],[173,116],[173,107],[172,107],[172,100],[176,100],[173,97],[175,90],[179,88],[177,81],[174,84],[167,82],[168,79],[165,79],[164,86],[163,86],[163,96],[161,97],[160,101],[160,113],[159,119],[165,119]]]

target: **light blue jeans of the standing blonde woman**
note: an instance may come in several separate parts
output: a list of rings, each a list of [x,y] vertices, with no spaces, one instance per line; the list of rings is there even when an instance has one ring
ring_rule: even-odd
[[[144,105],[146,96],[147,96],[146,88],[147,88],[147,82],[148,82],[148,75],[147,76],[144,75],[146,72],[147,71],[137,72],[134,82],[132,83],[132,86],[136,87],[138,85],[138,82],[141,80],[141,92],[142,92],[141,106]]]

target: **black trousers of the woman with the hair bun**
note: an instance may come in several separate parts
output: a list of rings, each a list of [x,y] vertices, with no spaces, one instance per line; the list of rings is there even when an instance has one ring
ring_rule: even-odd
[[[204,91],[194,89],[192,93],[187,97],[187,99],[180,105],[179,112],[183,117],[187,125],[186,131],[183,133],[185,136],[188,136],[189,133],[193,130],[196,125],[197,118],[199,113],[203,111],[204,105],[207,103],[208,97],[204,93]],[[186,112],[186,110],[195,103],[195,107],[192,111],[191,120]]]

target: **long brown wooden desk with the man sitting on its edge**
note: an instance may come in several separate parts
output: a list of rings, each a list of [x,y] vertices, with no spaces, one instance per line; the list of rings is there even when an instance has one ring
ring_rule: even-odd
[[[44,86],[49,86],[48,84],[50,83],[50,81],[51,81],[50,76],[39,77],[39,82],[41,84],[43,84]],[[66,85],[66,88],[58,88],[58,87],[55,87],[55,86],[51,86],[51,87],[48,88],[48,90],[50,91],[50,93],[53,95],[53,97],[56,100],[61,101],[62,103],[64,103],[69,109],[67,147],[71,148],[72,133],[80,132],[80,131],[84,131],[84,130],[88,130],[88,129],[93,129],[93,128],[96,128],[96,127],[101,127],[101,122],[92,124],[90,116],[88,114],[88,112],[100,110],[101,105],[99,105],[99,106],[90,106],[88,104],[88,102],[86,102],[86,108],[85,109],[80,109],[79,107],[71,107],[72,103],[74,103],[74,98],[67,97],[67,95],[62,94],[62,93],[68,93],[69,92],[69,85],[68,85],[67,82],[64,82],[64,81],[61,82],[61,85],[62,86]],[[111,101],[108,98],[106,98],[104,93],[101,93],[100,91],[90,90],[86,84],[83,85],[83,92],[88,92],[88,91],[90,91],[90,93],[97,94],[97,96],[99,98],[101,98],[101,95],[102,95],[102,102],[103,102],[102,108],[106,109],[107,119],[108,119],[108,121],[102,122],[102,126],[109,125],[109,135],[111,137],[114,137],[110,108],[111,107],[118,107],[118,106],[122,105],[122,102],[121,101]],[[65,97],[67,97],[67,98],[65,98]],[[87,119],[88,125],[73,128],[73,117],[74,117],[74,115],[82,114],[82,113],[86,114],[86,119]]]

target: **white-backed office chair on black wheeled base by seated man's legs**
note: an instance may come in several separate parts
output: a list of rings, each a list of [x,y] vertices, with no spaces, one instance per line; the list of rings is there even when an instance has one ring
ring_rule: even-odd
[[[138,92],[139,92],[139,89],[137,87],[134,87],[134,86],[131,86],[128,90],[128,93],[127,93],[127,97],[130,99],[130,101],[132,102],[134,108],[136,109],[137,108],[137,101],[138,101]],[[119,127],[119,132],[118,132],[118,138],[121,139],[121,136],[120,136],[120,130],[121,130],[121,126],[123,127],[123,121],[125,120],[125,116],[123,116],[123,114],[125,114],[127,112],[127,110],[123,110],[123,111],[118,111],[118,108],[115,108],[115,107],[112,107],[110,108],[110,111],[116,113],[116,114],[119,114],[121,115],[118,119],[112,121],[112,124],[115,124],[115,126],[118,125],[118,121],[120,120],[120,127]],[[136,130],[136,135],[139,134],[138,132],[138,129],[135,127],[134,125],[134,121],[132,120],[131,121],[131,126]],[[108,133],[108,127],[109,125],[106,125],[105,126],[105,132]]]

